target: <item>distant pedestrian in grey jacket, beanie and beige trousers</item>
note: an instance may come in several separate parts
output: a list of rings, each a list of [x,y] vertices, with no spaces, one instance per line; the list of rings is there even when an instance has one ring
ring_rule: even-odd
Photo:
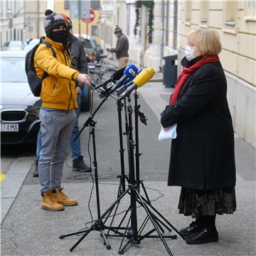
[[[115,53],[119,68],[124,68],[129,61],[129,41],[118,25],[114,28],[114,35],[117,36],[117,46],[115,48],[107,48],[106,50]]]

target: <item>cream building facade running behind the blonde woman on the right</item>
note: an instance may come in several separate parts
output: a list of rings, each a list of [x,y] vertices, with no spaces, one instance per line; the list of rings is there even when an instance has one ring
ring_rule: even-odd
[[[161,70],[164,56],[178,55],[179,63],[189,31],[213,28],[218,31],[223,50],[220,61],[228,81],[228,104],[235,132],[256,146],[256,16],[255,1],[154,1],[153,38],[149,43],[149,8],[138,1],[102,0],[107,14],[107,38],[102,33],[102,45],[113,46],[112,31],[122,26],[129,38],[130,62],[151,65]],[[143,1],[139,1],[143,2]],[[147,1],[148,2],[148,1]],[[110,8],[112,6],[112,8]],[[137,24],[137,35],[134,26]]]

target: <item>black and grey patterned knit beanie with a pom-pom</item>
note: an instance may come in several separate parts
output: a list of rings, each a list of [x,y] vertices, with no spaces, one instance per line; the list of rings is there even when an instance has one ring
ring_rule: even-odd
[[[45,15],[46,15],[46,20],[44,21],[43,26],[46,31],[46,36],[48,36],[50,31],[52,31],[53,28],[57,26],[66,27],[65,19],[63,18],[63,16],[60,16],[60,14],[55,14],[53,11],[48,9],[46,10]]]

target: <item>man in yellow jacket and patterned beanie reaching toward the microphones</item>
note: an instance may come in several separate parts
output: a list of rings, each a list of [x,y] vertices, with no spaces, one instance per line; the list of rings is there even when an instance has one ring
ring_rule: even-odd
[[[78,108],[75,81],[90,85],[88,76],[71,67],[68,50],[68,30],[59,14],[46,10],[44,22],[46,41],[56,53],[56,58],[46,45],[36,50],[34,64],[36,73],[42,78],[40,119],[42,146],[38,161],[39,184],[43,196],[41,207],[46,210],[63,210],[64,206],[75,206],[78,201],[63,193],[61,178],[63,164],[68,154],[70,137],[75,124],[75,109]]]

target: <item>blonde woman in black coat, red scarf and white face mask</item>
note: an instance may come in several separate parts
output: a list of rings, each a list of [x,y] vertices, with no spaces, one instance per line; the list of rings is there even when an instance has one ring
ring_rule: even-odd
[[[188,244],[218,241],[216,214],[236,209],[234,132],[220,50],[216,31],[189,33],[183,71],[161,113],[164,129],[177,124],[168,185],[181,186],[179,212],[196,218],[181,229]]]

